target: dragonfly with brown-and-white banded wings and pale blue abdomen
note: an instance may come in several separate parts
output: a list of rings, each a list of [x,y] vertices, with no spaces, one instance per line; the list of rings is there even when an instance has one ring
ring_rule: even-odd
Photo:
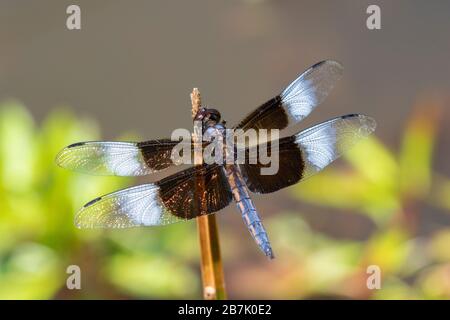
[[[280,94],[248,114],[233,129],[284,130],[298,124],[328,96],[343,67],[325,60],[300,74]],[[194,120],[222,134],[218,110],[201,107]],[[277,139],[279,170],[263,175],[254,163],[195,164],[154,183],[122,189],[86,203],[75,216],[78,228],[162,226],[216,213],[235,202],[254,241],[269,258],[273,250],[251,193],[266,194],[294,185],[324,169],[376,127],[372,117],[347,114]],[[273,142],[273,141],[272,141]],[[143,176],[177,165],[179,141],[88,141],[65,147],[56,163],[96,175]],[[247,147],[250,148],[250,147]],[[248,151],[248,150],[247,150]]]

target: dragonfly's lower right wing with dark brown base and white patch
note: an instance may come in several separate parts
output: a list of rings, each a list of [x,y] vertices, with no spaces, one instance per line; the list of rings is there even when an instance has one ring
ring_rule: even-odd
[[[350,114],[323,122],[293,136],[269,142],[267,150],[278,152],[278,171],[262,174],[272,164],[240,164],[248,188],[255,193],[270,193],[293,185],[321,171],[346,150],[375,130],[371,117]],[[246,150],[247,154],[251,150]],[[269,156],[272,156],[269,153]],[[247,155],[247,159],[249,156]],[[276,158],[272,157],[274,161]]]

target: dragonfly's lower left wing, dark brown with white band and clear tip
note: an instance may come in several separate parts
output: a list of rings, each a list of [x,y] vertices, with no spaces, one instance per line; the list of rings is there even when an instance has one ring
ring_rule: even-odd
[[[166,225],[214,213],[231,200],[222,167],[201,165],[96,198],[78,212],[75,224],[79,228]]]

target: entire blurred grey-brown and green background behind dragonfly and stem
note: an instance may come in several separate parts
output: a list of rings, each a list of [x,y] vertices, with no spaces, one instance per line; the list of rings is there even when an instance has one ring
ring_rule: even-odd
[[[66,28],[81,7],[82,29]],[[381,8],[381,30],[366,9]],[[448,1],[0,2],[0,299],[200,299],[195,221],[78,230],[87,201],[133,180],[58,168],[82,140],[191,127],[189,93],[229,124],[324,59],[345,68],[299,127],[345,113],[371,139],[315,177],[255,195],[276,259],[234,205],[217,214],[229,298],[450,297]],[[81,268],[68,290],[66,268]],[[366,268],[381,268],[368,290]]]

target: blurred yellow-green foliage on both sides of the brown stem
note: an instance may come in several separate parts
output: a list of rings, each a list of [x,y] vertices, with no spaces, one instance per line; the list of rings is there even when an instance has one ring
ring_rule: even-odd
[[[438,118],[439,108],[419,107],[398,152],[371,137],[344,161],[290,188],[291,210],[264,220],[275,261],[246,255],[235,230],[222,225],[230,297],[449,298],[450,225],[422,226],[430,213],[448,216],[450,210],[450,180],[432,165]],[[20,103],[0,105],[0,299],[200,298],[195,221],[127,230],[74,227],[86,201],[132,183],[54,164],[62,147],[99,138],[95,122],[68,109],[36,124]],[[328,212],[346,221],[320,229],[307,208],[324,213],[325,226]],[[368,226],[363,238],[348,235],[359,226],[354,215]],[[330,232],[339,228],[341,236]],[[83,290],[66,289],[72,264],[81,267]],[[381,290],[367,289],[368,265],[380,266]]]

